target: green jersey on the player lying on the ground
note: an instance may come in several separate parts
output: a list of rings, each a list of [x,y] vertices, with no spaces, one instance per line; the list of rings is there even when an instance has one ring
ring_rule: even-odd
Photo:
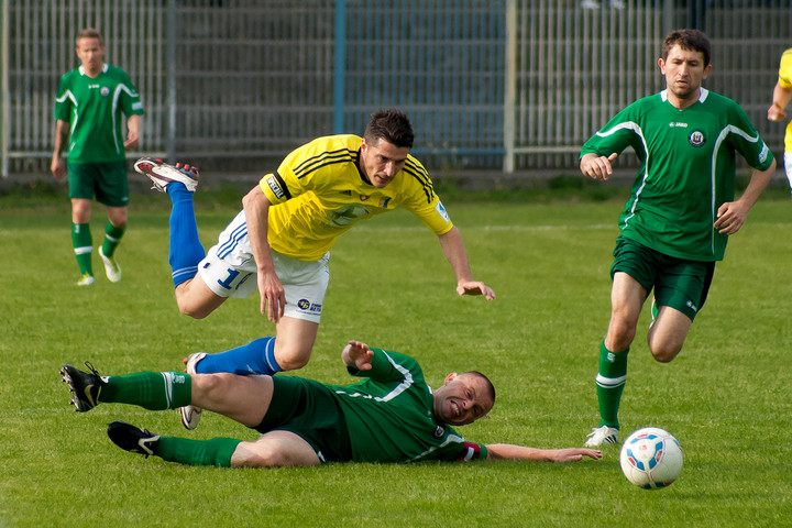
[[[432,392],[413,358],[372,349],[370,371],[354,385],[326,385],[336,391],[349,429],[355,462],[486,459],[486,447],[465,442],[432,410]]]

